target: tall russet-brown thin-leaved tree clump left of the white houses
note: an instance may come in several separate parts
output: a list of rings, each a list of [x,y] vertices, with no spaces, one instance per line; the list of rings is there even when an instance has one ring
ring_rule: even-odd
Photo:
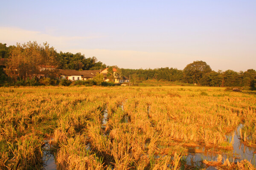
[[[12,48],[6,64],[6,74],[9,77],[32,79],[40,72],[41,65],[56,66],[56,51],[47,42],[38,45],[36,41],[27,42]]]

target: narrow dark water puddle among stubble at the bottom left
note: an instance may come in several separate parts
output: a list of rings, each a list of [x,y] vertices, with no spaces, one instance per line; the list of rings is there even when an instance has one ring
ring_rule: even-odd
[[[54,155],[52,154],[50,150],[50,144],[49,144],[49,139],[44,140],[44,147],[43,147],[43,161],[44,161],[44,170],[56,170],[56,164],[55,164],[55,159]]]

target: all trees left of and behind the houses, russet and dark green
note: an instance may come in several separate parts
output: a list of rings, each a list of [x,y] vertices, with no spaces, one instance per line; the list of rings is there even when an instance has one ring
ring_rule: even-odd
[[[107,66],[98,62],[96,57],[84,57],[81,53],[59,53],[47,42],[43,45],[37,42],[10,45],[0,43],[0,84],[20,80],[33,79],[41,74],[40,68],[58,68],[71,70],[99,70]],[[6,59],[6,60],[4,60]],[[58,77],[56,69],[44,70],[44,76],[50,79]]]

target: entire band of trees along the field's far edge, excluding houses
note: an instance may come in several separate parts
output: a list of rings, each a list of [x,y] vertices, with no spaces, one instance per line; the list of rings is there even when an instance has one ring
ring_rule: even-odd
[[[38,71],[38,65],[53,65],[59,69],[73,70],[99,70],[109,67],[96,57],[85,58],[83,54],[70,52],[57,52],[49,44],[38,45],[37,42],[27,42],[11,45],[0,43],[0,59],[8,59],[6,67],[0,66],[0,84],[13,81],[19,71],[19,79],[32,79]],[[113,66],[117,68],[117,66]],[[15,70],[15,71],[14,71]],[[136,84],[148,79],[157,81],[183,82],[213,87],[244,86],[255,89],[256,71],[236,72],[233,70],[213,71],[206,62],[194,61],[183,70],[177,68],[155,69],[120,69],[122,76],[131,76],[131,82]],[[30,75],[30,76],[28,76]],[[50,75],[50,74],[49,74]],[[52,78],[53,79],[53,78]]]

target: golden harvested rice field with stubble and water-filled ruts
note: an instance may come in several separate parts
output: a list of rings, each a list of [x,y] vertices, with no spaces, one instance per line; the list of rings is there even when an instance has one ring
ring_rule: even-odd
[[[253,91],[0,88],[1,170],[253,170],[255,155]]]

